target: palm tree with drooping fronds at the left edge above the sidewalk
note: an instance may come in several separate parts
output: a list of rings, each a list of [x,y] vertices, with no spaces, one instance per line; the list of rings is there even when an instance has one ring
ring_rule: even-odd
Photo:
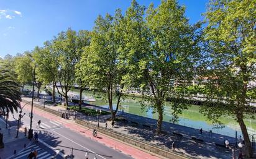
[[[6,68],[0,63],[0,108],[14,113],[21,108],[21,86]]]

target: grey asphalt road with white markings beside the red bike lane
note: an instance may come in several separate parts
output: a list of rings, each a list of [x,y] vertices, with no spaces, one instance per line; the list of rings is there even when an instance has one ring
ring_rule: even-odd
[[[25,126],[28,129],[30,126],[29,112],[30,111],[26,109],[22,112],[22,114],[25,113],[25,116],[22,118],[22,126]],[[17,116],[18,114],[15,114],[14,117],[17,118]],[[37,126],[39,120],[41,120],[40,127]],[[16,123],[17,122],[13,122],[12,126]],[[87,152],[89,158],[132,158],[129,155],[115,150],[115,148],[107,147],[106,145],[96,142],[96,140],[85,137],[85,135],[80,135],[77,132],[71,131],[70,129],[63,127],[62,123],[58,121],[51,121],[50,119],[47,119],[47,117],[44,118],[43,116],[39,116],[38,113],[34,113],[32,129],[39,133],[39,142],[42,149],[47,149],[47,152],[49,153],[55,152],[61,157],[71,157],[71,154],[73,154],[73,158],[75,159],[84,159],[85,153]],[[20,132],[19,135],[24,134]]]

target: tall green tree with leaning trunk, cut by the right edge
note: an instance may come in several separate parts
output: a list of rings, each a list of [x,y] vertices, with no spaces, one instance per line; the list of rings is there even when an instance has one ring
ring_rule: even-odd
[[[248,93],[255,90],[250,82],[256,80],[255,4],[255,0],[214,0],[205,14],[209,43],[209,65],[204,69],[209,77],[207,95],[209,100],[224,105],[203,107],[202,111],[214,122],[227,114],[239,122],[247,157],[253,155],[244,118],[252,114]]]

